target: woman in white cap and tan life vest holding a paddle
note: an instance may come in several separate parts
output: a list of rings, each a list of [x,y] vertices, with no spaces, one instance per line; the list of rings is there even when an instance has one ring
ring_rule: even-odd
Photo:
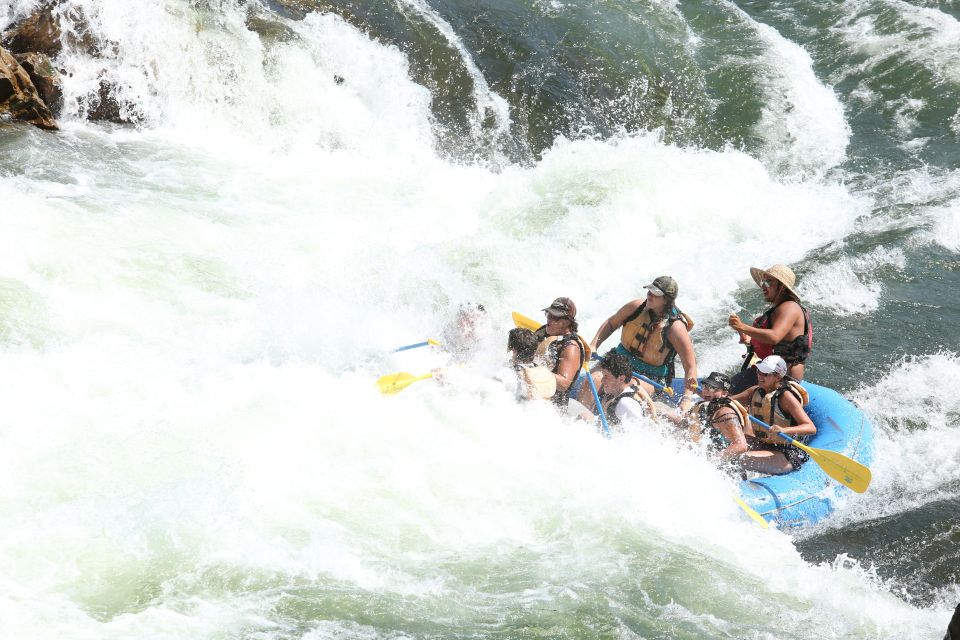
[[[773,432],[759,425],[754,428],[754,437],[747,439],[750,450],[740,457],[740,465],[747,471],[780,475],[799,469],[809,459],[805,451],[774,435],[785,433],[806,444],[817,433],[803,410],[809,400],[806,389],[786,375],[784,359],[767,356],[757,363],[758,384],[733,396],[737,402],[746,403],[750,415],[770,425]]]

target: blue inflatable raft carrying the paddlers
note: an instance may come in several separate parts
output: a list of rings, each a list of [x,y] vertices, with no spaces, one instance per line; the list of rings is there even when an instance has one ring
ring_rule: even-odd
[[[873,425],[866,416],[833,389],[806,381],[801,384],[810,394],[807,415],[817,427],[808,446],[837,451],[869,467],[873,462]],[[683,381],[675,380],[674,387],[682,390]],[[841,498],[854,494],[808,460],[792,473],[744,480],[740,495],[765,520],[787,528],[821,522]]]

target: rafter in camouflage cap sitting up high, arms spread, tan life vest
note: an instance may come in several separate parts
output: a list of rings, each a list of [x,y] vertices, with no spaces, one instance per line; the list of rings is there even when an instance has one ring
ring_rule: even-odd
[[[607,318],[590,349],[596,351],[614,331],[621,329],[617,353],[627,357],[634,372],[662,385],[673,381],[674,360],[679,355],[686,380],[684,395],[692,396],[697,390],[697,357],[690,341],[693,321],[676,307],[680,292],[677,281],[660,276],[645,288],[645,299],[631,300]],[[653,393],[651,385],[642,381],[639,384],[648,394]]]

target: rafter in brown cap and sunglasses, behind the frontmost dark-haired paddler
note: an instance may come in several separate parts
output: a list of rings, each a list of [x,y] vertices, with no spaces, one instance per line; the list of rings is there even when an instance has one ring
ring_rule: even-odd
[[[553,402],[566,407],[571,386],[580,374],[586,350],[577,335],[577,305],[570,298],[557,298],[543,310],[547,324],[534,333],[540,344],[534,362],[550,369],[557,382]]]

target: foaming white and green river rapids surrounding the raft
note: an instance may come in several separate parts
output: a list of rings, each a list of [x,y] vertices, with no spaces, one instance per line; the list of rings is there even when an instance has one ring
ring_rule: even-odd
[[[942,637],[956,2],[56,12],[61,130],[0,123],[4,640]],[[87,118],[102,86],[123,123]],[[655,426],[495,380],[511,311],[569,296],[589,337],[662,274],[701,374],[735,370],[776,262],[807,378],[876,428],[821,525],[761,530]],[[476,303],[465,362],[391,353]]]

